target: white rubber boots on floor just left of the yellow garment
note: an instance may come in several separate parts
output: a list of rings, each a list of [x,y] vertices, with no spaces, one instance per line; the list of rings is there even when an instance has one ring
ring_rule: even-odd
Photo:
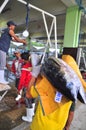
[[[26,116],[22,116],[23,121],[32,122],[33,108],[26,108]]]

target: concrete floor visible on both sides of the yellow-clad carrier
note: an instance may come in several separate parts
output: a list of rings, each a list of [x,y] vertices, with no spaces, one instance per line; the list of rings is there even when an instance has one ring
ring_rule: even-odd
[[[0,130],[30,130],[30,124],[21,119],[26,113],[25,104],[16,104],[16,95],[17,90],[11,84],[11,90],[0,102]],[[86,130],[86,105],[79,101],[70,130]]]

